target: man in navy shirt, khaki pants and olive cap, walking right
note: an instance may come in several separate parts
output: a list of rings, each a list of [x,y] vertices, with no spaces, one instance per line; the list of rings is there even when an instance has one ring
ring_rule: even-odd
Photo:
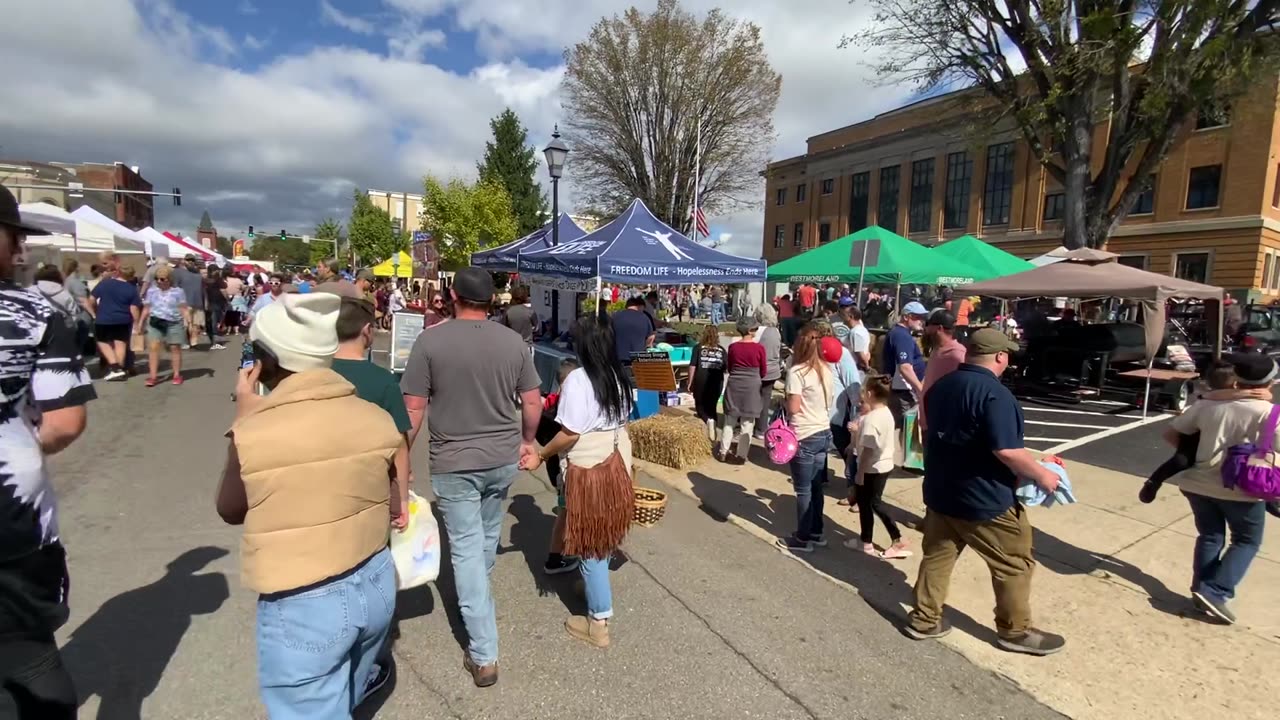
[[[1065,641],[1032,626],[1032,524],[1014,488],[1028,478],[1052,493],[1057,477],[1023,447],[1023,410],[1000,383],[1015,350],[1000,331],[977,331],[966,361],[929,388],[924,559],[904,632],[918,641],[951,632],[942,606],[951,570],[972,547],[991,570],[1000,648],[1052,655]]]

